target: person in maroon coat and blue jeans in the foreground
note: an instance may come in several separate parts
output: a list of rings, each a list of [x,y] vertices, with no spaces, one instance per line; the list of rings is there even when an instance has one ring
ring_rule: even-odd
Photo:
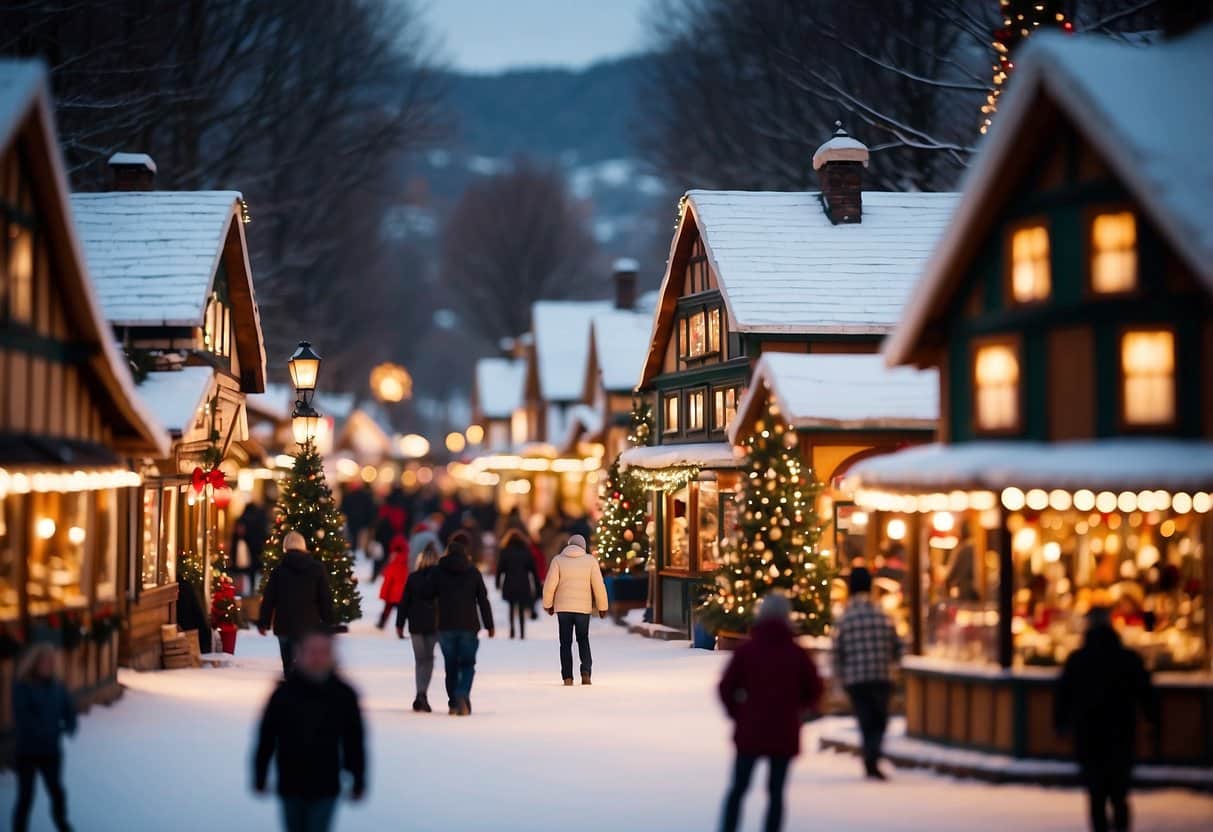
[[[721,701],[734,722],[738,757],[724,802],[722,832],[736,832],[741,802],[758,760],[767,758],[770,803],[767,832],[784,825],[784,783],[792,758],[801,753],[801,724],[821,700],[821,678],[813,659],[792,636],[787,595],[763,598],[750,640],[738,648],[721,679]]]

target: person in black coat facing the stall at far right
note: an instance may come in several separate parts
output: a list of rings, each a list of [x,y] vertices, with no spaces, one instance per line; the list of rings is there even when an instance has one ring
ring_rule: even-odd
[[[1054,707],[1058,733],[1074,737],[1090,800],[1090,828],[1127,832],[1138,710],[1157,725],[1158,705],[1141,657],[1121,643],[1106,609],[1087,616],[1087,636],[1066,660]]]

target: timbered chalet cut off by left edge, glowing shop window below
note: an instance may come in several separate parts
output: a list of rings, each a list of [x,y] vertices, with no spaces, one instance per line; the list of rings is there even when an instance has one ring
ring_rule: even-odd
[[[0,61],[0,752],[13,660],[59,648],[78,705],[116,697],[126,522],[169,438],[81,255],[41,63]],[[0,753],[4,756],[4,753]]]

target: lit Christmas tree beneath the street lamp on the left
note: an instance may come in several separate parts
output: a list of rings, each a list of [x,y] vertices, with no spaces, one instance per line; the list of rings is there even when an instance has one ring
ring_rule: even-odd
[[[308,552],[319,558],[329,572],[335,622],[357,621],[363,614],[361,595],[344,526],[346,520],[337,511],[324,478],[320,455],[314,445],[307,444],[295,457],[291,475],[280,484],[274,523],[266,541],[261,592],[264,592],[266,581],[283,559],[283,537],[289,531],[297,531],[307,541]]]

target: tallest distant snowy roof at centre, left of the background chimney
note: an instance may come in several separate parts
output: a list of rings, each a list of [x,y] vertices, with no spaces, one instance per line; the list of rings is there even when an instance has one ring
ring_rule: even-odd
[[[585,393],[590,321],[610,301],[536,301],[531,307],[540,394],[546,401],[576,401]]]

